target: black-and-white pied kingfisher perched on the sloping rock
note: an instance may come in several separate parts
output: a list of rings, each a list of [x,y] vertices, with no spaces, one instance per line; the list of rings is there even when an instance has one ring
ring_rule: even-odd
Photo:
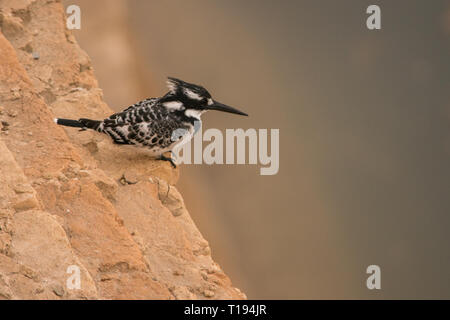
[[[209,110],[248,116],[247,113],[220,103],[197,84],[168,77],[169,91],[158,98],[147,98],[103,120],[87,118],[55,118],[58,125],[94,130],[108,135],[115,144],[132,145],[146,149],[157,160],[169,161],[164,156],[194,136],[202,124],[201,115]]]

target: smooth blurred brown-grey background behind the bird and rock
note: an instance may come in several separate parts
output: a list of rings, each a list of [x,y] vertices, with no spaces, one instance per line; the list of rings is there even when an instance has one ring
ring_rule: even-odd
[[[174,76],[250,114],[204,130],[280,129],[277,175],[183,165],[178,183],[249,298],[450,298],[450,1],[63,3],[114,110]]]

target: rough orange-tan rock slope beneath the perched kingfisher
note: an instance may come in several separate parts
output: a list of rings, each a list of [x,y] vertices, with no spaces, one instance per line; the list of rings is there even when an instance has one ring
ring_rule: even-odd
[[[54,124],[112,113],[65,21],[57,1],[0,1],[0,298],[245,298],[191,220],[178,169]]]

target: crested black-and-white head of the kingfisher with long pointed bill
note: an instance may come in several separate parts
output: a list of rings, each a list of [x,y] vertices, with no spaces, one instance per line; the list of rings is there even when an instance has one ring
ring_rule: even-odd
[[[214,100],[202,86],[169,77],[169,93],[163,99],[163,105],[173,111],[183,111],[187,116],[200,118],[208,110],[217,110],[248,116],[246,113]]]

